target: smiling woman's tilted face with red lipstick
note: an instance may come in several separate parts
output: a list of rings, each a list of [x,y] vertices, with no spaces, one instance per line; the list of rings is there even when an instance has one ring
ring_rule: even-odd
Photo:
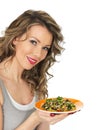
[[[16,63],[22,69],[31,69],[45,59],[51,47],[52,38],[52,34],[46,27],[41,25],[32,26],[27,34],[23,34],[13,41],[16,49],[14,58]]]

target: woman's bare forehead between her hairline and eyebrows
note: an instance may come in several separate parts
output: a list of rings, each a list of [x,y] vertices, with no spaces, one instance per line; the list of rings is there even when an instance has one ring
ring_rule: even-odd
[[[50,44],[52,42],[53,36],[52,33],[42,25],[33,25],[27,32],[28,37],[37,38],[43,43]]]

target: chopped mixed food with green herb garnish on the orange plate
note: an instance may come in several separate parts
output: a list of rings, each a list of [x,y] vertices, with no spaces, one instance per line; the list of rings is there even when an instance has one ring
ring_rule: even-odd
[[[76,109],[76,105],[68,98],[58,96],[49,98],[42,104],[41,109],[51,112],[66,112]]]

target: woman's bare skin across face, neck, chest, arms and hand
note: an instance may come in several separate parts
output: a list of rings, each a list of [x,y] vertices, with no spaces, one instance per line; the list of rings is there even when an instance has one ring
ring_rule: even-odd
[[[29,70],[45,59],[52,45],[52,38],[46,27],[34,25],[29,29],[28,34],[13,40],[16,55],[0,63],[0,79],[17,103],[25,105],[32,101],[34,94],[31,94],[31,89],[21,78],[21,74],[24,69]],[[2,105],[3,95],[0,89],[0,130],[3,124]],[[49,130],[50,124],[55,124],[67,116],[60,114],[51,117],[49,113],[36,110],[15,130],[33,130],[36,126],[38,126],[37,130]]]

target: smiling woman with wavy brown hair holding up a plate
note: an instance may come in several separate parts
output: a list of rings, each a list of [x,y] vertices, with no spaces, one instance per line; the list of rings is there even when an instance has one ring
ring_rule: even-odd
[[[63,48],[61,29],[44,11],[27,10],[0,38],[0,130],[49,130],[66,114],[34,109],[48,96],[48,69]]]

